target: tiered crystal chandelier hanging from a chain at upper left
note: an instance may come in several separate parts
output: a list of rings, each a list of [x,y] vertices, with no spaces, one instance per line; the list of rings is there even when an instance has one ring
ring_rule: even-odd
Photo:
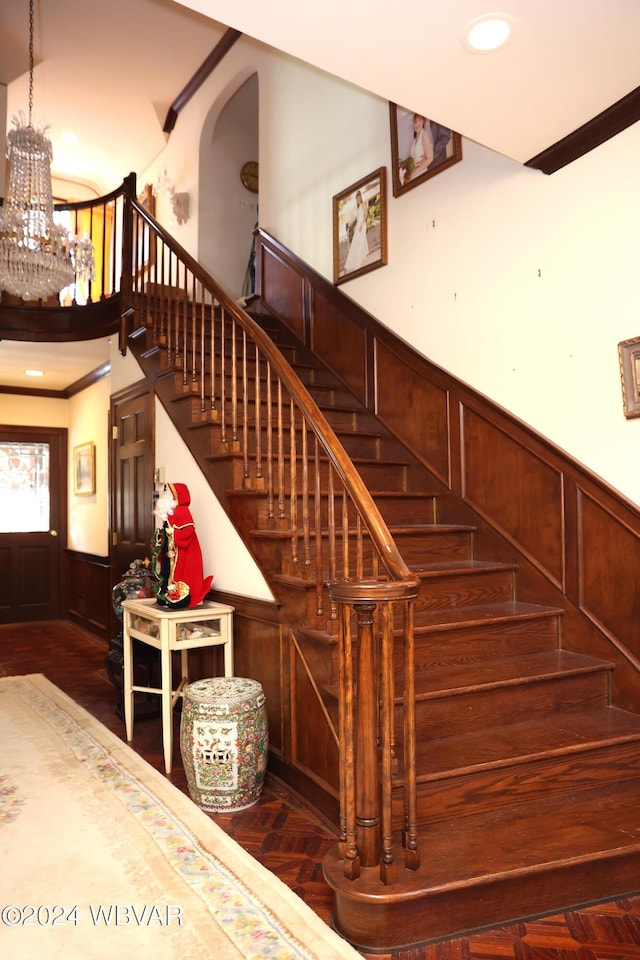
[[[47,127],[31,123],[33,0],[29,0],[29,117],[13,117],[7,134],[7,196],[0,207],[0,289],[22,300],[45,300],[77,280],[93,279],[93,245],[53,219]]]

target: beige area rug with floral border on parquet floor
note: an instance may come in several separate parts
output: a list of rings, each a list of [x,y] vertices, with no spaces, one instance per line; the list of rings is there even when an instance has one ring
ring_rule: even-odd
[[[360,958],[40,675],[0,679],[0,956]]]

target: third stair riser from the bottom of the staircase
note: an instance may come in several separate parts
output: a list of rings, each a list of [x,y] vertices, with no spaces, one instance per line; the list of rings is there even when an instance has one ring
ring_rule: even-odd
[[[530,679],[518,684],[480,689],[456,696],[418,699],[418,740],[479,733],[488,727],[507,728],[579,706],[607,703],[607,672]],[[402,735],[402,706],[397,708],[397,734]],[[470,756],[469,763],[479,758]]]

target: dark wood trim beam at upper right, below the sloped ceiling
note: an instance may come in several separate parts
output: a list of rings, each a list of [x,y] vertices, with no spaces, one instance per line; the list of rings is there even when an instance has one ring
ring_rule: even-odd
[[[573,133],[527,160],[525,167],[555,173],[640,120],[640,87],[588,120]]]

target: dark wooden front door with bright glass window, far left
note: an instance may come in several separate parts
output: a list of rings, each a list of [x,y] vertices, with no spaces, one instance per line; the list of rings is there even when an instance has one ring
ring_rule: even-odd
[[[0,426],[0,623],[55,620],[67,542],[67,431]]]

